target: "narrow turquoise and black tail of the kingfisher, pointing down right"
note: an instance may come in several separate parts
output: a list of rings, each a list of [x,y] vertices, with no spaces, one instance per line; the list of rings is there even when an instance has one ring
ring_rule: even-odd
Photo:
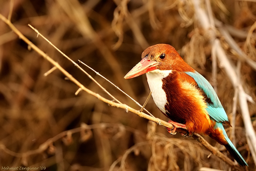
[[[222,123],[216,123],[216,125],[217,124],[218,124],[218,127],[223,131],[224,137],[225,137],[225,139],[227,141],[227,144],[224,145],[226,147],[226,149],[233,156],[233,158],[238,162],[239,165],[241,165],[241,166],[248,166],[248,164],[246,163],[246,161],[244,160],[242,155],[238,152],[238,150],[233,145],[231,140],[229,140],[229,137],[227,136],[226,131],[225,131]]]

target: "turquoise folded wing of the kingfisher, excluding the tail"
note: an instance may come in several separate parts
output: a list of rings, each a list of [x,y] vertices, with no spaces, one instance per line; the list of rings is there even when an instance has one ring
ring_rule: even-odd
[[[200,73],[195,72],[185,72],[187,75],[191,76],[198,87],[204,92],[204,94],[210,99],[210,102],[207,102],[208,108],[206,109],[208,114],[216,122],[228,122],[227,114],[222,107],[220,100],[214,91],[211,84],[205,79]]]

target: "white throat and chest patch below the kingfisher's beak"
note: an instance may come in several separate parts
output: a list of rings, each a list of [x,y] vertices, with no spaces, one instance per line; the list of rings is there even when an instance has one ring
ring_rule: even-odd
[[[167,103],[166,94],[162,88],[163,82],[162,79],[167,77],[169,73],[172,73],[172,70],[153,70],[146,73],[148,86],[150,91],[152,91],[152,97],[156,106],[164,113],[166,110],[164,108]]]

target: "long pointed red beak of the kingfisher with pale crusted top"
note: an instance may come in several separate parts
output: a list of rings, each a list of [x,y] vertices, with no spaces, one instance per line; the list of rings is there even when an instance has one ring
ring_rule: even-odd
[[[138,64],[133,67],[125,76],[125,79],[134,78],[136,76],[142,75],[149,71],[157,69],[156,66],[160,64],[157,61],[152,61],[148,57],[143,58]]]

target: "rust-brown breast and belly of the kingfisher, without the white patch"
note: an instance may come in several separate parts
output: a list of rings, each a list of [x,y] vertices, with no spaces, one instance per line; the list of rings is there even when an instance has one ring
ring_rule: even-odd
[[[206,133],[212,122],[206,111],[204,96],[196,88],[195,80],[184,74],[173,72],[163,79],[168,102],[165,115],[174,122],[186,124],[189,132]]]

